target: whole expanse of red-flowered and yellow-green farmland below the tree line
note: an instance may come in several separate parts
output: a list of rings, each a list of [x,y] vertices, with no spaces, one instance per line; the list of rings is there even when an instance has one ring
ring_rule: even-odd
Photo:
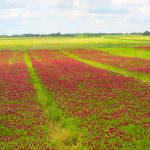
[[[150,147],[150,36],[0,38],[0,147]]]

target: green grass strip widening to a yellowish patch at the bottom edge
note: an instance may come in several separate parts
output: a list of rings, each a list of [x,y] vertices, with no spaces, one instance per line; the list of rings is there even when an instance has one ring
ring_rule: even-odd
[[[80,143],[81,133],[78,132],[78,126],[75,124],[75,120],[65,117],[58,108],[52,96],[41,83],[27,53],[24,54],[24,60],[31,75],[31,80],[37,94],[37,101],[42,106],[49,120],[48,133],[52,145],[59,149],[85,149]]]

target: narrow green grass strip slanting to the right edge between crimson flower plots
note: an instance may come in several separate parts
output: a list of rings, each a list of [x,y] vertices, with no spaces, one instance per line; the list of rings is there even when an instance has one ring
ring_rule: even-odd
[[[106,64],[102,64],[102,63],[97,63],[97,62],[94,62],[94,61],[91,61],[91,60],[83,59],[83,58],[78,57],[77,55],[70,54],[66,51],[62,51],[62,52],[65,55],[67,55],[67,56],[69,56],[73,59],[76,59],[80,62],[83,62],[85,64],[88,64],[90,66],[105,69],[105,70],[109,70],[109,71],[112,71],[112,72],[115,72],[115,73],[122,74],[122,75],[127,76],[127,77],[134,77],[135,79],[141,80],[141,81],[146,82],[146,83],[150,83],[150,76],[149,75],[146,75],[146,74],[143,74],[143,73],[137,73],[137,72],[129,72],[129,71],[126,71],[124,69],[117,68],[117,67],[114,67],[114,66],[110,66],[110,65],[106,65]]]

